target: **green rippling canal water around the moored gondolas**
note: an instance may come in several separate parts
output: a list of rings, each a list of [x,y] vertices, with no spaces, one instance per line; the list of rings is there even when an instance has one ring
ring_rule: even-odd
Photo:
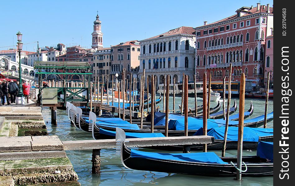
[[[233,99],[231,105],[233,104]],[[172,97],[170,100],[170,109],[172,109]],[[253,101],[254,113],[251,116],[257,117],[264,114],[265,100],[246,99],[245,110],[250,107],[250,102]],[[239,100],[236,98],[237,105]],[[181,98],[176,97],[176,105],[181,104]],[[210,107],[215,107],[217,102],[211,102]],[[158,104],[160,110],[163,109],[162,102]],[[202,99],[198,98],[198,105],[202,105]],[[227,102],[226,102],[227,105]],[[194,108],[194,98],[189,98],[189,107]],[[273,111],[273,101],[269,101],[268,113]],[[238,111],[236,111],[238,112]],[[61,140],[85,140],[92,139],[91,133],[81,131],[70,125],[66,111],[58,110],[58,126],[51,126],[50,111],[44,108],[42,111],[44,121],[47,123],[49,135],[58,135]],[[268,128],[273,128],[273,122],[267,124]],[[213,151],[219,156],[221,151]],[[227,156],[235,156],[236,150],[227,150]],[[101,174],[91,174],[91,155],[92,150],[83,151],[67,151],[67,156],[74,166],[74,170],[79,176],[81,185],[147,185],[156,184],[163,186],[177,185],[206,185],[206,186],[221,186],[221,185],[243,185],[243,186],[272,186],[273,177],[242,177],[242,181],[236,181],[233,177],[203,177],[191,175],[167,174],[151,171],[130,170],[125,168],[120,160],[120,155],[114,149],[101,150]],[[254,155],[256,151],[243,151],[243,155]]]

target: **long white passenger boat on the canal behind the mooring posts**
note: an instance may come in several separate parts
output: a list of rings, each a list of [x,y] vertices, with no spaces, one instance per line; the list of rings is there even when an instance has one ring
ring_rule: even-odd
[[[169,86],[169,94],[173,94],[173,84],[171,83]],[[167,91],[167,87],[165,89]],[[197,95],[203,95],[203,82],[196,82],[196,90]],[[158,86],[157,93],[164,94],[164,84]],[[188,83],[188,94],[194,95],[194,83]],[[175,84],[175,95],[182,95],[182,84]]]

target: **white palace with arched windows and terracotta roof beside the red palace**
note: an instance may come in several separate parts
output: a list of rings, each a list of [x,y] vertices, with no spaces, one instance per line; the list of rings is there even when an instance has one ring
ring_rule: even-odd
[[[158,84],[170,75],[170,82],[182,82],[183,73],[194,79],[196,36],[192,27],[179,27],[140,41],[140,75],[145,69],[145,80],[152,75]],[[146,83],[145,83],[146,85]]]

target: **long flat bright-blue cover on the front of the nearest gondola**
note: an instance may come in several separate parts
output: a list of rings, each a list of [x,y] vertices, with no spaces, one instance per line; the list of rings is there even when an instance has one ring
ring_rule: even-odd
[[[151,153],[131,149],[130,157],[148,158],[159,160],[175,160],[182,162],[201,162],[201,163],[218,163],[228,164],[223,162],[215,153]]]

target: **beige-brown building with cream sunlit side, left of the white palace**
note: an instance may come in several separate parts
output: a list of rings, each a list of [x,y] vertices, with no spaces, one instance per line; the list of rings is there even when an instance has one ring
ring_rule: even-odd
[[[140,42],[138,40],[122,42],[119,45],[111,46],[111,72],[118,73],[118,79],[122,79],[123,68],[126,69],[125,76],[138,78],[139,69]]]

